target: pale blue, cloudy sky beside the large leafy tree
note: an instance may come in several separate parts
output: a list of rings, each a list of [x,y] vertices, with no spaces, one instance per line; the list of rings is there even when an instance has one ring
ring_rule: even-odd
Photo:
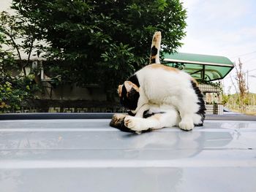
[[[187,37],[178,51],[225,56],[236,63],[240,58],[249,74],[249,92],[256,93],[256,1],[181,1],[187,9]],[[7,10],[10,3],[0,0],[0,11]],[[236,92],[231,82],[235,76],[233,69],[223,80],[225,93]]]

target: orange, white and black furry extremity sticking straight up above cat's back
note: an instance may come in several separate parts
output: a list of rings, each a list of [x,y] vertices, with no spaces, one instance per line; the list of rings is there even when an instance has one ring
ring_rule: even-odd
[[[151,44],[151,55],[149,59],[149,64],[160,64],[159,52],[161,46],[161,39],[161,32],[155,32]]]

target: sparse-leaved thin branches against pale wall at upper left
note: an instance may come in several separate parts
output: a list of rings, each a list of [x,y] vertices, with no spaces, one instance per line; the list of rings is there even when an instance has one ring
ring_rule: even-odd
[[[1,44],[6,45],[7,51],[15,57],[15,61],[10,66],[5,66],[4,69],[20,68],[25,77],[28,75],[26,66],[31,62],[31,54],[33,50],[39,54],[40,47],[42,47],[36,41],[35,31],[34,24],[26,18],[20,15],[10,15],[7,12],[0,13]]]

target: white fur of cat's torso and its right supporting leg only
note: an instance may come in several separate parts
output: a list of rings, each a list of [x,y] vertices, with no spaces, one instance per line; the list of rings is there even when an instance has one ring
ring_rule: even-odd
[[[138,107],[132,111],[136,114],[135,118],[143,118],[143,112],[157,104],[178,110],[181,129],[191,130],[194,124],[203,123],[201,116],[196,114],[200,106],[189,74],[176,69],[168,70],[159,64],[148,65],[135,74],[140,82]]]

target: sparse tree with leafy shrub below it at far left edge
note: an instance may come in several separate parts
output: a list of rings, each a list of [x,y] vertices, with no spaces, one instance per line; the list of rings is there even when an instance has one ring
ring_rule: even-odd
[[[25,66],[29,58],[22,62],[20,50],[22,47],[26,50],[27,45],[31,50],[31,45],[26,45],[26,38],[20,44],[16,42],[21,34],[21,28],[15,24],[16,19],[6,12],[0,14],[0,112],[19,110],[22,103],[33,99],[39,91],[34,77],[26,75]],[[13,77],[11,71],[16,68],[22,68],[24,75]]]

